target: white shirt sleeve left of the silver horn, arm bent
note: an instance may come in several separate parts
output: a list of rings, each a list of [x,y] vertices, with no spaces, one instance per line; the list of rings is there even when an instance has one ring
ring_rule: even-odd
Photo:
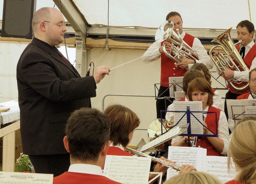
[[[161,58],[161,53],[159,52],[159,48],[161,47],[161,43],[154,42],[146,52],[144,52],[142,56],[142,62],[150,63],[152,61],[158,60]]]

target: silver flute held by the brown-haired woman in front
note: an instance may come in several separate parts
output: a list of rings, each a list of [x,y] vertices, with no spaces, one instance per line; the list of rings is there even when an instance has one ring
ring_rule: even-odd
[[[177,165],[177,164],[173,164],[173,163],[164,161],[164,160],[162,160],[162,159],[160,159],[160,158],[155,158],[155,157],[153,157],[153,156],[149,156],[149,155],[147,155],[147,154],[144,154],[144,153],[139,152],[139,151],[137,151],[137,150],[134,150],[134,149],[132,149],[132,148],[126,147],[125,150],[128,151],[128,152],[130,152],[130,153],[132,153],[132,154],[135,154],[135,155],[137,155],[137,156],[142,156],[142,157],[151,158],[152,161],[157,162],[157,163],[160,163],[160,164],[163,164],[163,165],[166,166],[166,167],[173,168],[173,169],[175,169],[176,171],[180,171],[180,169],[181,169],[181,166],[179,166],[179,165]]]

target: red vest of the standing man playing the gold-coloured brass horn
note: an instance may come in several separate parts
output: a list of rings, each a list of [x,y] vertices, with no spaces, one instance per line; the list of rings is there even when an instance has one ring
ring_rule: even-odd
[[[240,46],[236,45],[236,49],[239,51]],[[246,56],[244,57],[244,64],[246,64],[246,66],[250,69],[250,67],[252,66],[252,60],[256,57],[256,44],[254,44],[254,46],[252,46],[252,48],[249,50],[249,52],[246,54]],[[235,62],[236,63],[236,62]],[[238,64],[236,63],[236,65],[238,66]],[[232,69],[235,70],[235,69]],[[239,67],[239,70],[241,71],[241,68]],[[241,84],[236,84],[233,83],[235,86],[237,87],[242,87],[246,84],[247,82],[242,82]],[[232,93],[236,93],[236,94],[244,94],[247,92],[250,92],[250,88],[248,86],[248,88],[246,90],[243,91],[236,91],[233,88],[230,87],[230,85],[227,85],[227,88],[229,88],[229,91]]]

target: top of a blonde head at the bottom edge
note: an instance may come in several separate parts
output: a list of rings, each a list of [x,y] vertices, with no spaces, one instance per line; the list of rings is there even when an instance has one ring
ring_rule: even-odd
[[[216,176],[206,172],[188,172],[173,176],[164,184],[224,184]]]

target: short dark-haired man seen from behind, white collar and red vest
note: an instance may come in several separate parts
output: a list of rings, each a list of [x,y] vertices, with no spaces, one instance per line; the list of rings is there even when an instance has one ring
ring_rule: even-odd
[[[118,184],[102,175],[110,145],[110,120],[94,108],[74,111],[66,126],[63,139],[70,153],[68,172],[53,179],[54,184]]]

